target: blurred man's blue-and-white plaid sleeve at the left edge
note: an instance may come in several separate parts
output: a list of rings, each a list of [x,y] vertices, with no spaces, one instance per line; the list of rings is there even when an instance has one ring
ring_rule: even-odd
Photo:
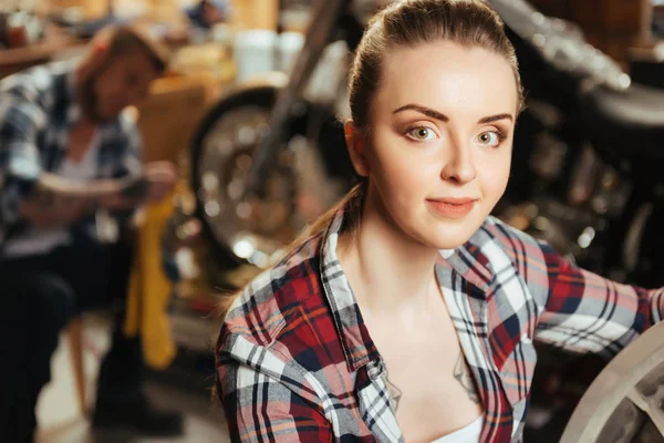
[[[0,94],[0,226],[14,224],[19,207],[42,173],[39,133],[46,123],[35,103]]]

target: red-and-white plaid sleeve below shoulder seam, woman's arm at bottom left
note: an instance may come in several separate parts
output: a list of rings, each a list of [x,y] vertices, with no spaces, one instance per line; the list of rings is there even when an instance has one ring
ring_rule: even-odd
[[[217,365],[218,398],[232,442],[331,442],[320,410],[277,378],[238,361]]]

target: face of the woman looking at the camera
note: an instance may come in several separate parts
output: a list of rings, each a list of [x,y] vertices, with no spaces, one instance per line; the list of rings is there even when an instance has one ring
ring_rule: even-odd
[[[511,66],[492,52],[447,41],[392,50],[371,141],[355,142],[367,205],[419,244],[466,243],[507,186],[517,102]]]

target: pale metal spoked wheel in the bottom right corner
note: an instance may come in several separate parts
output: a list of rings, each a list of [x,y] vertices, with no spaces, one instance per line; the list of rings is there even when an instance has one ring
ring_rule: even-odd
[[[664,442],[664,323],[604,368],[579,402],[561,442]]]

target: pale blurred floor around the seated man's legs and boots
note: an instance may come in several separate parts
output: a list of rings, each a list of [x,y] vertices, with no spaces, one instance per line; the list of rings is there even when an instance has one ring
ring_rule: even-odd
[[[108,347],[108,324],[86,321],[84,365],[87,404],[94,404],[94,380],[100,359]],[[185,435],[177,439],[136,437],[129,431],[93,432],[81,413],[74,385],[68,341],[63,336],[52,362],[53,380],[44,389],[38,405],[40,430],[38,443],[124,443],[124,442],[229,442],[224,414],[205,394],[181,390],[163,382],[149,381],[146,391],[160,408],[177,409],[186,414]]]

